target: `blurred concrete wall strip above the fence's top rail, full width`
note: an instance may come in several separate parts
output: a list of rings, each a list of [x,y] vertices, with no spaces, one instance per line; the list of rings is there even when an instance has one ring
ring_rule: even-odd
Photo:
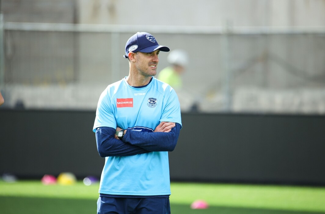
[[[186,25],[325,26],[325,0],[2,0],[5,21]]]

